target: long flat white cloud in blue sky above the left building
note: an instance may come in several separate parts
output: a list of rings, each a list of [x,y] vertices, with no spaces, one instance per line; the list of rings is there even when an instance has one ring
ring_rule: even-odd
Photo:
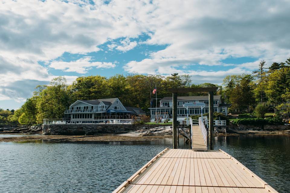
[[[93,67],[114,68],[116,66],[111,62],[91,62],[91,60],[92,57],[88,56],[71,62],[52,61],[49,67],[57,70],[63,70],[65,72],[77,72],[80,74],[85,74]]]

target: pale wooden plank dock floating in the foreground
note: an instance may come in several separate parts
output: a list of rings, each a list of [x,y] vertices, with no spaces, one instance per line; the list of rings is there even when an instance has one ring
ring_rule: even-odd
[[[277,192],[222,150],[166,148],[113,193]]]

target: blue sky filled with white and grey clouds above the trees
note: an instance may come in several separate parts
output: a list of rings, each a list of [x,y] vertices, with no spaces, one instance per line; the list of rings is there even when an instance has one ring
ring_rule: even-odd
[[[290,0],[0,0],[0,107],[56,76],[190,74],[221,84],[290,57]]]

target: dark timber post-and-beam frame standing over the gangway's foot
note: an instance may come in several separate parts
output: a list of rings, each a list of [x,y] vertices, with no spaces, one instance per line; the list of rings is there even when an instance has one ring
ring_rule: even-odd
[[[172,141],[173,149],[177,149],[177,93],[192,93],[192,92],[208,92],[208,107],[209,107],[209,148],[213,150],[213,133],[214,133],[214,92],[218,87],[201,87],[201,88],[172,88],[169,92],[172,93]]]

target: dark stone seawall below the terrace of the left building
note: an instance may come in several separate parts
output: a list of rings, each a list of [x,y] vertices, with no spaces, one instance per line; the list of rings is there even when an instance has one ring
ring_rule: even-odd
[[[122,125],[122,124],[64,124],[43,125],[43,135],[98,135],[151,129],[160,125]]]

